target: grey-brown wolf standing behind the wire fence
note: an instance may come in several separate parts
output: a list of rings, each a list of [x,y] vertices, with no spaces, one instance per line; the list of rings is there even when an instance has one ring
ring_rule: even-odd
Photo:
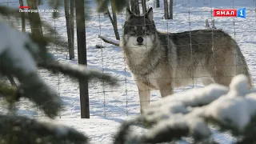
[[[152,7],[143,16],[127,9],[120,46],[138,86],[141,112],[149,105],[150,90],[160,90],[166,97],[174,87],[197,78],[205,86],[213,82],[228,86],[237,74],[250,79],[245,58],[230,35],[222,30],[158,32]]]

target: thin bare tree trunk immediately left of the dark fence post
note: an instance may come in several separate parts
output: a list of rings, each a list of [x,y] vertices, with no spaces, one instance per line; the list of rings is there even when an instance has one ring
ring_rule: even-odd
[[[68,45],[69,45],[69,54],[70,54],[70,59],[73,59],[74,58],[74,47],[72,47],[69,0],[64,1],[64,6],[65,6],[65,15],[66,15],[66,32],[67,32]]]

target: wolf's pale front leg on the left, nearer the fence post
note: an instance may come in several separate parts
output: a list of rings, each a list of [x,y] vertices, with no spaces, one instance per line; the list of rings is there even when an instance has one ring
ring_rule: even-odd
[[[136,82],[138,86],[139,102],[141,106],[141,114],[143,109],[150,105],[150,87],[142,82]]]

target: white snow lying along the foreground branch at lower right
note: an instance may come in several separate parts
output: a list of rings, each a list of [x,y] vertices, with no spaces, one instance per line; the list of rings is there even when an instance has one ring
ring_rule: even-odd
[[[238,88],[241,84],[244,85],[242,86],[244,89]],[[255,90],[250,90],[249,81],[242,74],[233,78],[230,89],[226,94],[222,93],[223,91],[219,92],[216,89],[217,85],[215,87],[214,85],[198,89],[198,94],[191,92],[193,90],[174,94],[170,98],[166,97],[159,100],[158,105],[149,106],[149,109],[142,114],[142,118],[145,118],[146,122],[149,123],[156,122],[156,125],[142,138],[155,138],[159,134],[164,134],[165,131],[177,130],[188,131],[190,135],[196,135],[199,138],[208,138],[211,133],[207,122],[219,122],[223,126],[230,126],[230,130],[233,128],[243,134],[246,126],[256,114]],[[223,89],[222,86],[218,87],[220,87],[219,90]],[[209,89],[214,90],[210,90],[213,92],[207,95],[204,91]],[[216,98],[214,93],[221,95]],[[206,96],[200,94],[206,94]],[[177,98],[180,98],[179,101],[176,101]],[[209,105],[191,108],[194,103],[200,103],[204,98],[209,99],[207,102],[210,103]],[[194,103],[185,103],[186,99],[190,99]],[[141,138],[136,137],[134,139]]]

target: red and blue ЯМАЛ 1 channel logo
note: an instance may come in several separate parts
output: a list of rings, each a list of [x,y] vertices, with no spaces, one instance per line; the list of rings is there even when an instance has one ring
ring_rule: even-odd
[[[239,17],[246,18],[246,8],[242,9],[214,9],[214,17]]]

